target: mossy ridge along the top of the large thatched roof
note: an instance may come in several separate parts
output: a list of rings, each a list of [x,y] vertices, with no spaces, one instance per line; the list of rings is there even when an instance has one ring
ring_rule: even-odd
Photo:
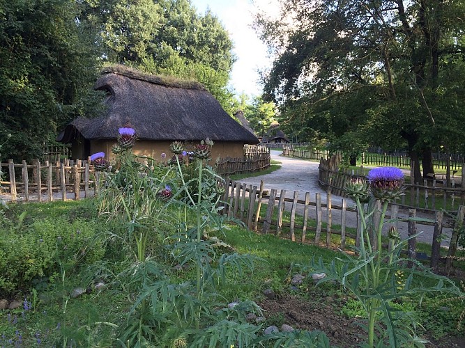
[[[173,88],[206,90],[202,84],[195,80],[179,79],[178,77],[173,76],[146,74],[140,70],[136,70],[121,64],[108,66],[102,70],[101,74],[120,74],[126,77],[130,77],[131,79],[138,79],[150,82],[151,84],[159,84]]]

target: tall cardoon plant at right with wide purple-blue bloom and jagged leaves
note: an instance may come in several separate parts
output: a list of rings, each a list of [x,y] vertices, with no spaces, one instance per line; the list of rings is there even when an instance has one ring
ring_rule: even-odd
[[[401,240],[399,232],[390,228],[388,239],[390,248],[382,248],[382,230],[388,204],[402,196],[402,184],[404,174],[399,168],[383,167],[369,171],[367,179],[358,178],[346,183],[346,192],[357,206],[361,217],[362,229],[360,232],[360,247],[354,248],[355,255],[346,253],[344,259],[337,258],[327,266],[320,259],[312,261],[311,269],[314,273],[324,273],[326,277],[319,283],[336,281],[341,283],[344,289],[349,290],[360,301],[367,317],[368,347],[401,347],[404,345],[422,346],[426,341],[415,336],[417,320],[411,313],[392,308],[393,301],[402,301],[402,298],[416,294],[416,296],[433,291],[453,291],[459,289],[448,278],[436,276],[422,264],[415,260],[401,258],[400,251],[406,245],[408,239]],[[366,212],[363,204],[367,198],[381,201],[381,219],[378,226],[374,226],[375,235],[370,239],[367,228],[367,220],[372,219],[376,205],[372,211]],[[408,261],[413,263],[413,268],[407,268]],[[436,287],[422,287],[413,283],[414,275],[421,278],[438,280]],[[399,275],[406,276],[399,279]],[[420,278],[420,277],[419,277]],[[400,285],[399,285],[400,283]],[[450,287],[444,287],[448,283]],[[386,329],[381,329],[382,323]],[[409,332],[411,330],[411,332]]]

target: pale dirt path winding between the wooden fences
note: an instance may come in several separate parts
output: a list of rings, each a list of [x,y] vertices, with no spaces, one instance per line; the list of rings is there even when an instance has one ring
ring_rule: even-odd
[[[264,188],[265,189],[277,189],[278,193],[280,190],[286,190],[286,197],[293,198],[294,191],[298,191],[299,199],[305,198],[305,193],[310,192],[310,200],[312,202],[315,201],[315,193],[321,194],[321,203],[326,203],[327,195],[326,191],[322,190],[318,184],[318,162],[314,161],[307,161],[303,159],[296,159],[291,157],[282,157],[281,151],[278,150],[271,150],[271,159],[275,159],[277,161],[282,162],[281,168],[273,173],[260,175],[257,177],[248,177],[245,179],[240,180],[244,184],[252,184],[256,185],[257,187],[260,186],[260,181],[264,180]],[[339,196],[332,195],[331,201],[333,205],[341,205],[342,198]],[[347,200],[348,207],[354,207],[355,203],[353,200]],[[287,207],[290,209],[289,207]],[[303,208],[300,209],[300,214],[303,214]],[[400,218],[407,218],[409,212],[405,209],[400,209],[399,217]],[[340,210],[333,209],[332,210],[333,216],[333,223],[340,224],[341,221],[341,214]],[[309,217],[312,219],[316,219],[315,210],[310,209]],[[423,214],[418,213],[418,217],[425,218],[425,219],[433,219],[434,216],[432,214]],[[326,221],[327,219],[327,212],[326,208],[323,208],[323,220]],[[347,214],[346,216],[346,226],[349,227],[356,227],[356,217],[355,214]],[[386,224],[387,225],[387,224]],[[407,236],[408,232],[408,224],[405,222],[398,223],[399,232],[401,233],[402,237]],[[420,230],[421,229],[421,230]],[[386,226],[387,230],[387,226]],[[433,226],[426,226],[426,225],[419,225],[417,224],[417,232],[422,231],[421,235],[417,237],[419,242],[425,243],[432,243],[432,235],[433,235]],[[441,242],[441,246],[448,246],[450,241],[450,233],[452,231],[450,228],[443,228],[443,235],[445,235],[445,240]]]

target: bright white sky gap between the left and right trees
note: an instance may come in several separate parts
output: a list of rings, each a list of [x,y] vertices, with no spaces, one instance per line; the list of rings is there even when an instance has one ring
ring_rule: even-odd
[[[207,8],[220,19],[234,43],[236,63],[231,72],[230,87],[236,95],[245,93],[249,97],[261,95],[258,69],[270,68],[266,45],[251,28],[256,7],[250,0],[191,0],[197,12],[205,13]],[[260,8],[276,13],[277,0],[255,0]]]

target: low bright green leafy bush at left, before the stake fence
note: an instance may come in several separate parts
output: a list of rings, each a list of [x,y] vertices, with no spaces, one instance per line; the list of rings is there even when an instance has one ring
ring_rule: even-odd
[[[39,277],[49,277],[59,262],[74,268],[102,258],[105,248],[94,239],[95,225],[82,219],[44,219],[31,226],[0,232],[0,293],[26,290]]]

